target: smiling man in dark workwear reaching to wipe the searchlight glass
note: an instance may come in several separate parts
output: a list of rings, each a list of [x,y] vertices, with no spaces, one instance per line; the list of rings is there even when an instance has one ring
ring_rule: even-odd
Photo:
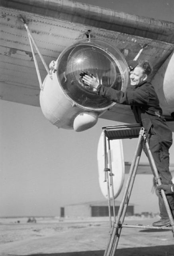
[[[159,106],[158,96],[151,83],[147,82],[151,73],[149,61],[129,61],[131,86],[125,92],[108,88],[98,83],[92,76],[84,76],[83,80],[88,86],[94,88],[96,93],[119,104],[130,105],[137,123],[145,128],[149,148],[152,152],[162,184],[172,185],[172,176],[169,171],[169,148],[172,145],[172,132],[166,125]],[[145,151],[145,148],[143,148]],[[143,183],[142,183],[143,184]],[[144,184],[143,184],[144,186]],[[170,224],[161,194],[158,194],[160,220],[153,226]],[[174,194],[167,194],[168,203],[174,216]]]

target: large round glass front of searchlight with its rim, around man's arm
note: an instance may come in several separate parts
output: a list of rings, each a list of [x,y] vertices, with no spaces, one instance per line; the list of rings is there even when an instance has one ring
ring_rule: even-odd
[[[58,58],[58,80],[65,93],[77,104],[89,109],[108,108],[113,102],[96,94],[82,80],[92,74],[100,84],[124,90],[128,83],[127,64],[119,50],[101,40],[81,41]]]

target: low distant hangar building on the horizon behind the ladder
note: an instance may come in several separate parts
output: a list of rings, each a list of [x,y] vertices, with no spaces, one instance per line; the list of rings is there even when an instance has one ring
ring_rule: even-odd
[[[120,202],[115,201],[115,215],[119,210]],[[134,215],[134,205],[129,204],[126,216]],[[103,217],[109,216],[108,201],[86,202],[79,204],[70,204],[61,207],[61,217],[77,218],[77,217]],[[111,216],[113,216],[113,207],[111,200]]]

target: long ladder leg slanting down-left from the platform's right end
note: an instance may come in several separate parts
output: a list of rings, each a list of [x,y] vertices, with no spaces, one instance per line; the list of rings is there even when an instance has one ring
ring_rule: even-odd
[[[124,195],[123,195],[123,199],[122,199],[120,207],[119,207],[119,212],[117,214],[116,221],[112,226],[110,236],[109,236],[108,246],[106,248],[104,256],[114,256],[115,255],[115,250],[117,248],[119,236],[120,236],[120,233],[121,233],[120,219],[121,219],[121,222],[123,222],[123,220],[125,218],[127,205],[128,205],[129,198],[130,198],[130,195],[131,195],[133,182],[135,180],[135,174],[137,172],[139,159],[140,159],[142,148],[143,148],[143,146],[142,146],[142,144],[143,144],[143,134],[144,134],[144,128],[141,128],[141,130],[139,132],[137,148],[135,150],[135,156],[133,158],[131,168],[130,168],[130,171],[129,171],[129,178],[127,180],[127,184],[126,184],[126,187],[125,187],[125,192],[124,192]]]

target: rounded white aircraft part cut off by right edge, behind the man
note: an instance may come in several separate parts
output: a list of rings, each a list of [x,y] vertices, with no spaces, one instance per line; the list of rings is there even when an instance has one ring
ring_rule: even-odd
[[[170,116],[174,112],[174,52],[156,72],[152,84],[158,94],[163,114]]]

